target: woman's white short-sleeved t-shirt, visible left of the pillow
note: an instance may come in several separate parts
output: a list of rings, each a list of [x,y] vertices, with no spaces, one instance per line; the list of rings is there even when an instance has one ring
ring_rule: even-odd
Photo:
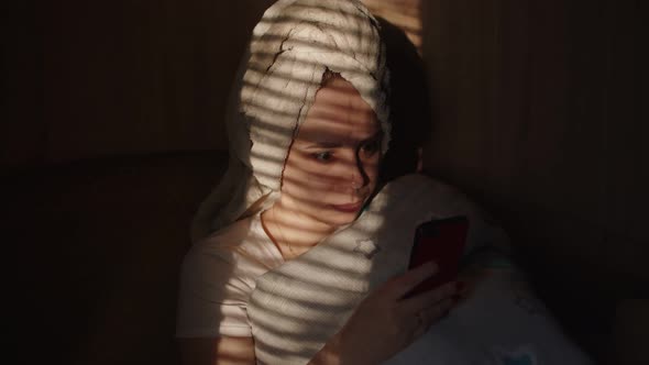
[[[283,263],[260,213],[195,244],[183,262],[176,336],[252,336],[246,305],[256,278]]]

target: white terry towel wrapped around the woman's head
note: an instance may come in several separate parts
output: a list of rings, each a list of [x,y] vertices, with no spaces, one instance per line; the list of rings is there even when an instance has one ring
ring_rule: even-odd
[[[193,241],[270,207],[326,70],[351,82],[389,142],[388,70],[378,22],[356,0],[280,0],[255,26],[227,115],[230,161],[204,201]]]

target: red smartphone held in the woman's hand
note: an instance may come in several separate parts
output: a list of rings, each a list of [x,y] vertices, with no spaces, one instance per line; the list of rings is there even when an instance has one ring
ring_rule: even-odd
[[[431,220],[417,226],[408,268],[415,268],[433,261],[439,269],[437,274],[419,284],[406,297],[428,291],[457,279],[468,231],[469,220],[464,215]]]

